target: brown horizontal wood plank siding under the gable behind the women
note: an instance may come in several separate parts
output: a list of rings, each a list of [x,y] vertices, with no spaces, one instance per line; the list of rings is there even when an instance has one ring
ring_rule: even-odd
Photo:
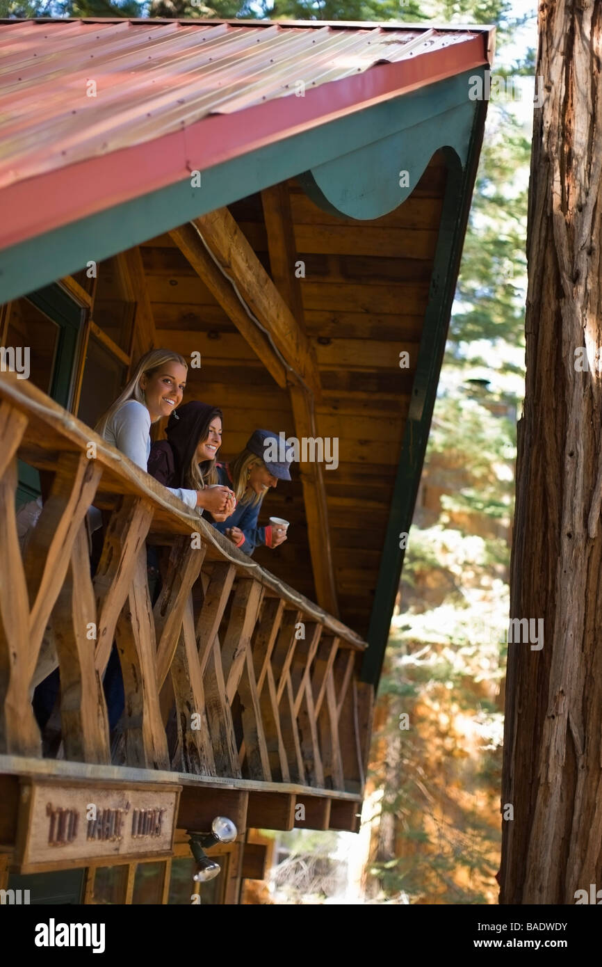
[[[305,268],[302,315],[323,392],[315,404],[317,432],[339,440],[338,469],[323,475],[336,595],[341,619],[360,634],[368,627],[385,540],[445,177],[443,158],[435,156],[403,205],[365,222],[330,215],[295,181],[287,183],[296,260]],[[236,202],[230,212],[270,272],[261,196]],[[202,353],[202,368],[189,371],[186,398],[222,408],[222,457],[238,453],[257,426],[295,435],[289,390],[276,385],[173,240],[160,236],[140,251],[158,345]],[[403,350],[408,369],[399,367]],[[290,520],[289,540],[275,551],[258,548],[254,559],[316,600],[299,470],[294,476],[268,495],[261,515]]]

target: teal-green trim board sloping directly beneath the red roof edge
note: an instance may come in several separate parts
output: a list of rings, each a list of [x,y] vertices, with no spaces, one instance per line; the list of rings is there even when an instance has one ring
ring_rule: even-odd
[[[131,249],[188,220],[423,123],[437,135],[431,139],[428,157],[427,150],[423,153],[426,166],[433,144],[435,150],[447,143],[455,145],[454,109],[468,104],[474,111],[478,104],[469,99],[469,78],[475,73],[484,73],[484,68],[457,74],[216,165],[201,172],[200,188],[192,188],[188,180],[179,182],[4,249],[0,251],[0,303],[71,275],[89,261]],[[457,145],[456,150],[462,157],[464,150]],[[354,165],[346,168],[349,177],[352,182],[358,178]],[[398,182],[399,178],[397,191],[387,202],[392,208],[404,197]],[[348,188],[353,194],[353,184]],[[364,205],[358,215],[373,217]]]

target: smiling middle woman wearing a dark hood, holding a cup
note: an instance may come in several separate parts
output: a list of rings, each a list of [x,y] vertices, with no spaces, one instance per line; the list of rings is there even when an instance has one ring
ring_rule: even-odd
[[[197,399],[172,413],[167,424],[166,440],[151,447],[148,471],[159,484],[200,491],[217,487],[226,494],[222,513],[212,512],[214,520],[225,520],[234,510],[234,493],[227,484],[220,485],[215,458],[221,446],[221,410]],[[208,506],[209,500],[203,502]]]

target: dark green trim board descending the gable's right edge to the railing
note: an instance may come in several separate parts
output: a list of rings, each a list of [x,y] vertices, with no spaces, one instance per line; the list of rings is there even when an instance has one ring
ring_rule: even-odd
[[[381,677],[390,619],[405,556],[405,549],[399,546],[399,536],[402,533],[408,534],[412,524],[416,493],[437,396],[439,374],[444,359],[445,340],[460,268],[464,235],[471,208],[487,112],[486,102],[475,102],[475,105],[471,143],[464,168],[451,150],[444,149],[448,174],[431,277],[430,298],[424,316],[412,400],[402,441],[387,521],[387,536],[370,616],[368,648],[364,653],[361,666],[362,681],[369,682],[375,687],[378,686]]]

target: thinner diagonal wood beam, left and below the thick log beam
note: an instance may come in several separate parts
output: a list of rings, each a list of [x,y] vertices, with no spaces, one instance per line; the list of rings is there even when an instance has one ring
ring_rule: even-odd
[[[266,366],[278,386],[285,387],[286,368],[284,364],[273,351],[270,340],[249,319],[232,284],[215,265],[214,259],[203,245],[194,225],[181,225],[180,228],[174,228],[169,234],[197,275],[203,279],[221,308]],[[228,274],[232,275],[232,273]]]

